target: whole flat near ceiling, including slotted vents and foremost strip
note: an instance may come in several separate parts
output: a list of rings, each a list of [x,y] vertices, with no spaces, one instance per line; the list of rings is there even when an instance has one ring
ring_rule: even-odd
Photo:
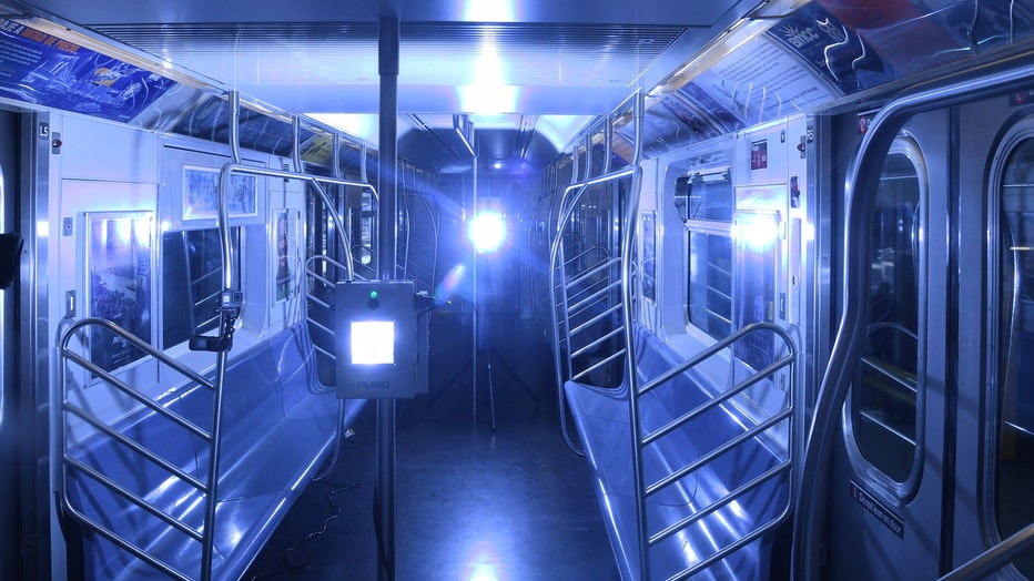
[[[0,0],[288,113],[379,110],[377,19],[399,19],[398,113],[591,119],[652,89],[764,0]],[[541,115],[541,116],[539,116]],[[541,121],[538,122],[539,124]],[[399,126],[405,132],[407,124]],[[450,125],[435,125],[446,134]],[[521,126],[491,128],[504,155]],[[543,142],[566,143],[578,126]],[[513,134],[501,137],[507,131]],[[376,135],[359,135],[374,141]],[[517,143],[515,141],[515,143]]]

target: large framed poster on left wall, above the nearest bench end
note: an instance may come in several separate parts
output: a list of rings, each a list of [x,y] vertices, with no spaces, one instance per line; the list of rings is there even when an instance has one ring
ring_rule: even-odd
[[[151,340],[151,212],[88,214],[87,290],[91,317],[108,319]],[[107,329],[90,335],[90,359],[104,370],[125,366],[143,351]]]

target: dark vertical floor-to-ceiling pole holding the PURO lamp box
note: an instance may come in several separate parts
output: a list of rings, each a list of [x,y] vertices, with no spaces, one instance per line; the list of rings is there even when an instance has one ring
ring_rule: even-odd
[[[395,277],[395,230],[398,224],[398,188],[396,183],[398,137],[398,16],[389,13],[386,3],[377,37],[381,73],[381,211],[378,212],[377,258],[381,276]],[[377,560],[378,581],[395,579],[395,400],[377,400],[377,531],[381,555]]]

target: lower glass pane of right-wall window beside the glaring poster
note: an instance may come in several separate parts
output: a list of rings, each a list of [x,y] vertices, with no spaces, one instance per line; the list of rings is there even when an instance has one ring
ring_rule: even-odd
[[[731,236],[689,233],[689,323],[716,339],[731,333]]]

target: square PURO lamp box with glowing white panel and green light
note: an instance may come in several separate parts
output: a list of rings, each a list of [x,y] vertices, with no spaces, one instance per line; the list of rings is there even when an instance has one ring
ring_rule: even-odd
[[[415,296],[413,281],[337,283],[337,397],[416,395]]]

